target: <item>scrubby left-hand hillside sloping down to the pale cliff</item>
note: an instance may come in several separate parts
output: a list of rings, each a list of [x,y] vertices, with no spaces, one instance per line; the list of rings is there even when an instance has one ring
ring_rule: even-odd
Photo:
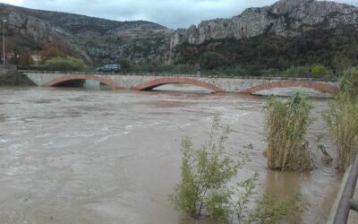
[[[0,16],[7,20],[8,48],[41,50],[49,42],[60,42],[72,56],[88,63],[107,63],[119,57],[137,63],[162,61],[173,32],[154,22],[117,22],[10,4],[0,4]]]

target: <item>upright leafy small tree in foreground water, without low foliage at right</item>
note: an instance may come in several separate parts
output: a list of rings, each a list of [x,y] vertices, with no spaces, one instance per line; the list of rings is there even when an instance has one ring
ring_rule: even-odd
[[[235,161],[226,154],[224,142],[227,140],[229,128],[224,129],[216,142],[218,127],[216,117],[209,134],[209,142],[199,149],[193,148],[190,138],[183,138],[182,179],[169,199],[175,209],[185,211],[193,218],[207,214],[220,223],[227,223],[231,214],[241,211],[233,206],[234,190],[229,186],[229,182],[243,166],[246,158]],[[247,198],[252,193],[252,183],[256,177],[257,175],[242,182],[246,194],[241,194],[243,201],[235,203],[240,204],[241,208],[248,202]]]

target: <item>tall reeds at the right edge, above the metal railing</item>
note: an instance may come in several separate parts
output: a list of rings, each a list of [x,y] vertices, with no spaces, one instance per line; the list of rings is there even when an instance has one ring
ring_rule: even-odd
[[[344,172],[358,151],[358,68],[345,71],[339,87],[323,116],[337,147],[337,168]]]

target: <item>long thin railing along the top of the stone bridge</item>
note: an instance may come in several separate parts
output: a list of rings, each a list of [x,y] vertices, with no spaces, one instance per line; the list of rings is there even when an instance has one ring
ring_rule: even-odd
[[[72,71],[38,71],[38,70],[19,70],[21,73],[64,73],[64,74],[115,74],[115,75],[136,75],[136,76],[181,76],[192,78],[225,78],[225,79],[255,79],[255,80],[294,80],[294,81],[317,81],[317,82],[337,82],[338,76],[332,78],[312,78],[300,76],[278,76],[278,75],[245,75],[245,74],[232,74],[232,75],[218,75],[218,74],[179,74],[179,73],[96,73],[96,72],[72,72]]]

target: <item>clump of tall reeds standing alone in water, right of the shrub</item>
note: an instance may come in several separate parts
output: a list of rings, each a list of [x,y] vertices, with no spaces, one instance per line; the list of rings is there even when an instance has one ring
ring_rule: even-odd
[[[268,100],[268,168],[281,171],[311,169],[310,152],[305,147],[311,108],[311,102],[300,93],[295,93],[286,102],[277,98]]]

